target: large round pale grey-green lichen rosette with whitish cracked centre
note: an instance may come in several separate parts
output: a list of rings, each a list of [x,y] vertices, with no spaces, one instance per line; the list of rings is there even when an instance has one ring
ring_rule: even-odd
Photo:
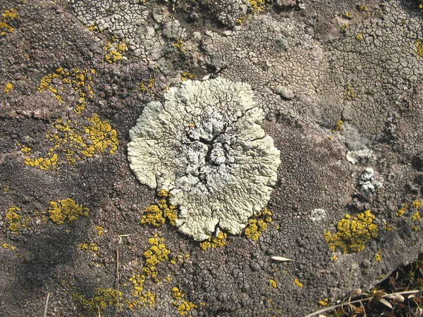
[[[266,206],[281,163],[263,119],[250,85],[188,80],[145,106],[130,130],[130,167],[170,190],[181,232],[198,241],[216,226],[238,234]]]

